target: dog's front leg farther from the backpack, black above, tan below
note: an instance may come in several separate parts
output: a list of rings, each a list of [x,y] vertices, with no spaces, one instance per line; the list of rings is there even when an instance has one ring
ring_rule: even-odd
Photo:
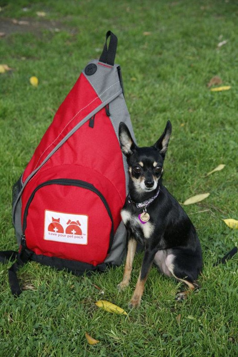
[[[142,261],[142,266],[140,269],[140,275],[137,280],[137,285],[135,286],[135,291],[133,293],[133,296],[129,302],[129,307],[136,307],[140,306],[141,298],[144,292],[145,288],[145,282],[147,280],[150,268],[152,266],[154,256],[155,256],[156,251],[155,250],[149,250],[145,249],[145,255]]]

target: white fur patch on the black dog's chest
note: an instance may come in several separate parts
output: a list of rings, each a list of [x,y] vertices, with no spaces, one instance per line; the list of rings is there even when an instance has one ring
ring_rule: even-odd
[[[132,234],[137,241],[143,243],[145,239],[151,237],[154,231],[154,226],[150,221],[143,224],[139,221],[137,215],[128,210],[122,210],[121,216],[124,225],[132,231]]]

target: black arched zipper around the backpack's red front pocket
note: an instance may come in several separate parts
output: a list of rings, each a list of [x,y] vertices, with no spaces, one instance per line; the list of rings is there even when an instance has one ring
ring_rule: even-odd
[[[34,195],[35,195],[36,191],[38,191],[41,187],[48,186],[48,185],[78,186],[78,187],[90,190],[90,191],[96,193],[96,195],[99,196],[99,198],[103,202],[103,204],[104,204],[104,206],[106,208],[106,211],[108,212],[108,215],[109,215],[110,220],[111,220],[111,231],[110,231],[110,240],[109,240],[109,248],[108,248],[108,253],[109,253],[109,251],[111,249],[111,245],[113,243],[113,236],[114,236],[113,217],[111,215],[110,208],[108,206],[108,203],[107,203],[105,197],[101,194],[101,192],[97,188],[95,188],[91,183],[88,183],[88,182],[85,182],[85,181],[81,181],[81,180],[72,180],[70,178],[58,178],[56,180],[49,180],[49,181],[43,182],[39,186],[37,186],[35,188],[35,190],[31,193],[30,198],[29,198],[29,200],[28,200],[28,202],[26,204],[26,207],[25,207],[25,211],[24,211],[24,215],[23,215],[23,237],[25,237],[26,217],[28,215],[28,209],[29,209],[29,206],[31,204],[31,201],[34,198]]]

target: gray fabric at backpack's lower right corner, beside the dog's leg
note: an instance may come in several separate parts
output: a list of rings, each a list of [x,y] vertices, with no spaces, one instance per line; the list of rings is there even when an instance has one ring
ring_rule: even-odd
[[[127,251],[127,230],[123,222],[118,226],[113,244],[111,246],[111,251],[108,257],[105,259],[105,263],[111,263],[115,265],[120,265],[123,263],[123,258]]]

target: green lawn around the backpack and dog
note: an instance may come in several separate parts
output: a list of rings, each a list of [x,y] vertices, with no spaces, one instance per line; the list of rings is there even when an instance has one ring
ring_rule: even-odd
[[[0,64],[13,68],[0,74],[1,249],[17,248],[11,186],[85,64],[99,57],[109,29],[118,36],[116,62],[138,144],[155,142],[170,119],[165,185],[180,202],[210,192],[185,207],[204,256],[202,288],[187,301],[175,302],[180,285],[152,268],[140,309],[128,310],[142,254],[130,287],[120,294],[123,266],[75,277],[29,263],[19,277],[34,290],[15,299],[9,264],[1,265],[0,356],[237,356],[237,257],[213,267],[237,245],[237,231],[222,221],[238,219],[235,2],[0,0],[0,6],[0,23],[30,22],[28,31],[18,25],[18,33],[0,38]],[[36,11],[45,11],[44,19]],[[42,24],[37,31],[31,25],[36,21]],[[217,49],[222,40],[228,42]],[[33,75],[37,88],[29,84]],[[207,83],[215,75],[231,89],[210,92]],[[204,177],[219,164],[225,169]],[[99,310],[94,302],[100,299],[123,307],[128,317]],[[100,342],[88,345],[85,332]]]

